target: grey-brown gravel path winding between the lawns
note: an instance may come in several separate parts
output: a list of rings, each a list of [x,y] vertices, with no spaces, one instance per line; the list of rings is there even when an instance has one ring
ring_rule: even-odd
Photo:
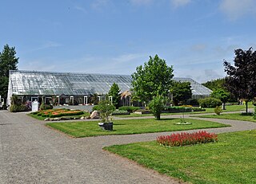
[[[210,120],[232,125],[207,129],[210,132],[256,129],[256,123]],[[24,113],[0,111],[0,183],[179,183],[102,151],[113,144],[150,141],[167,134],[170,132],[72,139]]]

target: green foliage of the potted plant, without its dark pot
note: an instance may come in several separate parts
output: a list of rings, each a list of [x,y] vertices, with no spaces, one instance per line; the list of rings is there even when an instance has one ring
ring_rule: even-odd
[[[114,105],[109,100],[101,100],[98,103],[98,112],[100,113],[102,123],[110,122],[110,115],[114,110]]]

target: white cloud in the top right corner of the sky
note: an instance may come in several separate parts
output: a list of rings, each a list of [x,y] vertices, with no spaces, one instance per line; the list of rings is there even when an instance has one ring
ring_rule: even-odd
[[[256,0],[222,0],[219,9],[234,21],[248,14],[256,14],[255,5]]]

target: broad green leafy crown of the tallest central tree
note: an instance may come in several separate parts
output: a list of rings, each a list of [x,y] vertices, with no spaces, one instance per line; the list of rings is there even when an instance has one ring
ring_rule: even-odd
[[[133,96],[146,103],[152,100],[153,96],[167,96],[173,84],[173,72],[173,67],[166,65],[166,61],[158,55],[150,57],[144,66],[139,65],[132,74]]]

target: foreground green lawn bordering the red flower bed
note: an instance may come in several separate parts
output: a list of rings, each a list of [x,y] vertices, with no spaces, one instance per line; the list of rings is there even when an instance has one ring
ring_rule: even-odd
[[[256,131],[220,134],[218,140],[189,147],[153,141],[104,149],[186,182],[256,183]]]

